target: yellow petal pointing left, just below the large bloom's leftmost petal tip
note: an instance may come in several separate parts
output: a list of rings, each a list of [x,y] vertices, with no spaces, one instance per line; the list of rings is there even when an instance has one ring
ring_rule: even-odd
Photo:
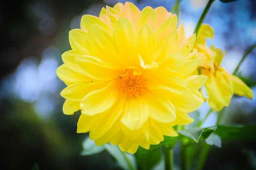
[[[80,102],[88,93],[104,88],[105,82],[81,82],[67,86],[61,91],[61,96],[70,101]]]

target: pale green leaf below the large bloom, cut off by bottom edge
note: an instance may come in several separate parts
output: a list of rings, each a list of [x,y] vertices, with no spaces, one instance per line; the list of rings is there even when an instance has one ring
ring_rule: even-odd
[[[122,152],[118,146],[112,145],[112,144],[105,144],[105,149],[108,151],[108,153],[113,156],[116,161],[119,163],[120,167],[122,167],[125,170],[136,170],[136,160],[134,156],[130,153],[124,153]]]

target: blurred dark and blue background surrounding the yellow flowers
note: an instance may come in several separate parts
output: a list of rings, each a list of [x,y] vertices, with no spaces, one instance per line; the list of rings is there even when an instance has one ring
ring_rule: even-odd
[[[106,5],[124,0],[11,0],[0,1],[0,169],[46,170],[121,169],[103,151],[81,156],[87,134],[76,133],[79,113],[62,113],[65,85],[56,76],[61,54],[70,50],[68,31],[79,28],[83,14],[99,15]],[[175,0],[131,0],[140,10]],[[181,0],[180,18],[186,35],[192,34],[207,0]],[[233,72],[247,48],[256,42],[256,1],[216,0],[205,23],[215,31],[207,45],[227,51],[222,65]],[[242,64],[239,77],[256,94],[256,48]],[[207,112],[204,104],[201,119]],[[256,124],[256,99],[234,96],[222,124]],[[211,114],[203,126],[215,125]],[[178,145],[177,145],[178,147]],[[236,149],[234,149],[236,148]],[[178,166],[179,157],[175,155]],[[256,169],[255,141],[224,142],[212,147],[204,169]],[[161,168],[160,168],[161,169]],[[177,167],[178,169],[178,167]]]

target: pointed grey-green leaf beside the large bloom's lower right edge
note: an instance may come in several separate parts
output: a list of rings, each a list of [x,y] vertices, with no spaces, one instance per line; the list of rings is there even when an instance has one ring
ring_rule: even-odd
[[[210,126],[210,127],[192,127],[185,130],[177,131],[183,136],[186,136],[190,139],[193,139],[195,142],[198,143],[198,140],[202,136],[204,139],[207,139],[210,134],[215,131],[217,126]]]

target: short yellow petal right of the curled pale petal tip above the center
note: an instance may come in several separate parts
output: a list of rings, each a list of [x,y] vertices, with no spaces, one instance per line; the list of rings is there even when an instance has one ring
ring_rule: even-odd
[[[159,62],[160,68],[168,68],[171,71],[178,71],[179,68],[184,64],[185,58],[180,54],[171,54],[161,62]]]

